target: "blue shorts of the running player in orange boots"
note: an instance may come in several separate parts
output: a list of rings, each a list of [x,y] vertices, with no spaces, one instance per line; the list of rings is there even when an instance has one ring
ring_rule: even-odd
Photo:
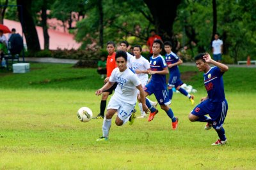
[[[160,105],[171,104],[171,101],[168,97],[167,89],[155,90],[152,83],[148,83],[147,85],[145,85],[144,91],[147,92],[149,95],[154,94],[156,96],[157,102]]]

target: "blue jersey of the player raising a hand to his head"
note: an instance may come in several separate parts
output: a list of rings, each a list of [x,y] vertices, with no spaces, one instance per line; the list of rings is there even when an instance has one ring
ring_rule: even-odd
[[[208,99],[212,102],[223,102],[225,100],[223,72],[219,67],[211,67],[204,74],[204,86],[207,90]]]

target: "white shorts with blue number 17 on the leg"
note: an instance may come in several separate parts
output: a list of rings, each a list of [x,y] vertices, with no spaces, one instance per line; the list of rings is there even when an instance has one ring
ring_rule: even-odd
[[[111,97],[108,103],[107,110],[109,109],[117,110],[118,112],[117,116],[124,122],[127,118],[131,117],[131,113],[134,110],[135,105],[136,103],[134,104],[125,103],[124,101],[118,101],[113,97]]]

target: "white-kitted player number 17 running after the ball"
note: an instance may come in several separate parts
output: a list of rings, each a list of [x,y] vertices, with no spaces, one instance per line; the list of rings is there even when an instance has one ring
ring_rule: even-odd
[[[97,90],[95,94],[99,96],[106,89],[109,89],[115,82],[118,83],[115,94],[111,97],[107,114],[104,118],[102,125],[103,135],[97,141],[107,141],[109,136],[109,129],[111,127],[111,118],[115,115],[116,111],[118,115],[115,123],[118,126],[125,124],[128,120],[129,124],[134,122],[134,106],[137,100],[137,90],[140,90],[141,103],[143,111],[148,111],[145,103],[145,94],[141,82],[136,74],[127,67],[127,54],[124,51],[116,52],[116,67],[109,78],[108,83],[102,88]]]

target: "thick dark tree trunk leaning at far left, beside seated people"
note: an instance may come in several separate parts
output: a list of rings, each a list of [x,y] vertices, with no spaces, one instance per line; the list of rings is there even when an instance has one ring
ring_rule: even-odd
[[[22,31],[25,34],[28,50],[31,52],[40,51],[40,43],[36,32],[34,20],[31,14],[31,1],[32,0],[17,0],[19,20],[22,25]]]

